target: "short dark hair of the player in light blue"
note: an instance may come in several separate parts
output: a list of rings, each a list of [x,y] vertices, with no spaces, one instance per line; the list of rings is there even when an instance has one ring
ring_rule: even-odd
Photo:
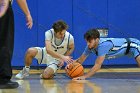
[[[90,29],[84,34],[84,39],[87,41],[97,38],[100,38],[100,33],[97,29]]]

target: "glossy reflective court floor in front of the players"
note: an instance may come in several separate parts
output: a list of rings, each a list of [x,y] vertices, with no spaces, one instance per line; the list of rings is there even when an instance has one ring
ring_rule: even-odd
[[[17,89],[1,89],[0,93],[140,93],[139,72],[98,72],[87,80],[72,81],[64,73],[53,80],[43,80],[39,74],[31,74],[17,80]]]

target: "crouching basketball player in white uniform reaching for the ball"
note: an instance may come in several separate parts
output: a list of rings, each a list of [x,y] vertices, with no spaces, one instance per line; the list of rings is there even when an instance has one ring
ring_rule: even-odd
[[[20,71],[16,78],[23,79],[29,76],[29,69],[32,59],[36,58],[39,64],[47,64],[46,69],[41,74],[41,78],[51,79],[55,72],[64,62],[73,62],[69,56],[74,50],[74,38],[67,32],[68,25],[59,20],[55,22],[52,29],[45,32],[45,47],[29,48],[25,55],[25,67]]]

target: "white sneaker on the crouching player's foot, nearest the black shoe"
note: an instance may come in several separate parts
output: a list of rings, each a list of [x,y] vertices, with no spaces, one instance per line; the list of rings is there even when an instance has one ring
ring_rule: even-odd
[[[25,77],[29,76],[29,68],[23,68],[15,77],[18,79],[23,79]]]

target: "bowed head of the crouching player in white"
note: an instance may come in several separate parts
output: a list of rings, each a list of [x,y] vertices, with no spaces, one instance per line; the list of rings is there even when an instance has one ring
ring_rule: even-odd
[[[63,20],[58,20],[53,24],[52,28],[54,29],[57,38],[63,38],[68,29],[68,25]]]

